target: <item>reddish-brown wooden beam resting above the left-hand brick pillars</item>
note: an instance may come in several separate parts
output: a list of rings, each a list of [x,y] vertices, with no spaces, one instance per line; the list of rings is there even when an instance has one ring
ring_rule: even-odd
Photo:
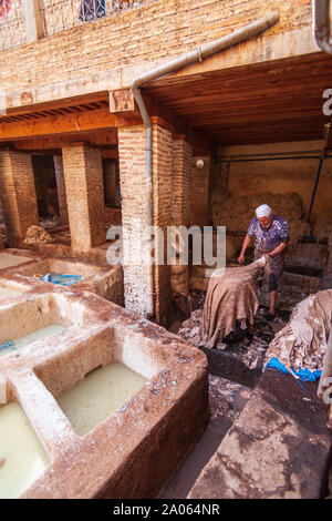
[[[142,124],[142,118],[110,114],[108,109],[42,118],[40,120],[2,123],[0,121],[0,141],[22,140],[33,136],[56,134],[76,134],[93,130]]]

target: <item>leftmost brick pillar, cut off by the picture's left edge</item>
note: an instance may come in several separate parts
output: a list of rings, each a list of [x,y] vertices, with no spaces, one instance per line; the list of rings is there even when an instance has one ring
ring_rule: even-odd
[[[0,193],[8,245],[22,247],[29,226],[39,225],[30,154],[0,152]]]

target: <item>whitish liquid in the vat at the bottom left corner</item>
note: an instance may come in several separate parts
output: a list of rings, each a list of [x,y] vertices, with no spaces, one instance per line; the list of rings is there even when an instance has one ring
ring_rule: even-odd
[[[24,492],[49,464],[27,416],[18,403],[0,408],[0,499]]]

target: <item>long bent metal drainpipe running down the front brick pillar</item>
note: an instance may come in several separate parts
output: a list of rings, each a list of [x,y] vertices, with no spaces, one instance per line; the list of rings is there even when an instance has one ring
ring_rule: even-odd
[[[278,11],[272,11],[269,14],[266,14],[263,18],[257,20],[249,25],[246,25],[242,29],[239,29],[226,37],[220,38],[211,43],[208,43],[201,48],[196,49],[195,51],[188,52],[175,60],[172,60],[164,65],[157,67],[145,74],[141,74],[132,82],[132,91],[137,103],[138,110],[141,112],[143,122],[146,127],[146,137],[145,137],[145,155],[146,155],[146,165],[145,165],[145,175],[146,175],[146,205],[147,205],[147,224],[153,225],[153,171],[152,171],[152,161],[153,161],[153,127],[152,121],[148,115],[147,109],[145,106],[142,93],[139,88],[147,82],[160,78],[170,72],[178,71],[184,69],[191,63],[201,62],[205,58],[211,57],[212,54],[229,49],[237,43],[248,40],[249,38],[257,37],[261,32],[264,32],[267,29],[273,27],[278,23],[280,19],[280,13]],[[154,266],[151,266],[151,277],[149,277],[149,287],[151,287],[151,315],[154,315]]]

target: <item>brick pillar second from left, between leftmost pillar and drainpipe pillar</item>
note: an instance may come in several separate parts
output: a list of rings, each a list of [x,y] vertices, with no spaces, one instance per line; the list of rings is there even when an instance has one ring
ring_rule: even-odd
[[[87,252],[106,242],[101,152],[74,143],[62,157],[72,248]]]

